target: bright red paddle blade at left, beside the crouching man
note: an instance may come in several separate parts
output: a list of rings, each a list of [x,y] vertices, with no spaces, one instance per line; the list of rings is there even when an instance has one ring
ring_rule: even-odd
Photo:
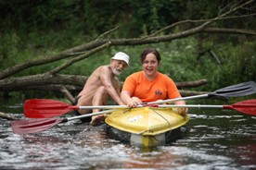
[[[30,118],[50,118],[78,109],[78,106],[46,99],[32,99],[24,103],[24,115]]]

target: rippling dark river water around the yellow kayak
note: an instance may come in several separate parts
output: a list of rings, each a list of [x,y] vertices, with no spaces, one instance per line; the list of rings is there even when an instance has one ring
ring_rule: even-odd
[[[25,119],[22,103],[4,103],[0,112]],[[256,169],[256,116],[196,108],[189,115],[183,138],[155,148],[113,140],[106,125],[79,120],[17,135],[0,118],[0,169]]]

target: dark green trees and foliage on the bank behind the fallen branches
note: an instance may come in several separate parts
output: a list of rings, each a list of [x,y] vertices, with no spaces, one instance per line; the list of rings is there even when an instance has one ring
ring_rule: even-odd
[[[147,36],[174,22],[186,19],[215,18],[238,1],[184,0],[8,0],[0,1],[0,71],[35,57],[53,55],[65,49],[94,41],[116,26],[105,38]],[[255,2],[234,15],[255,13]],[[193,25],[180,25],[178,32]],[[256,21],[248,18],[224,19],[212,27],[255,30]],[[169,33],[169,32],[162,32]],[[121,80],[140,70],[138,56],[143,49],[160,50],[160,71],[174,81],[208,79],[197,91],[214,91],[243,81],[256,80],[255,36],[201,33],[173,42],[138,46],[111,46],[72,67],[65,74],[89,76],[98,66],[109,64],[117,51],[131,56],[131,66]],[[57,65],[57,64],[56,64]],[[33,67],[17,76],[44,72],[53,63]]]

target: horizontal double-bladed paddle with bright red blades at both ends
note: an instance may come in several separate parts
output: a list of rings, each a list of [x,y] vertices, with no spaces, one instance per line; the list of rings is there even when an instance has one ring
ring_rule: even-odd
[[[255,112],[255,105],[256,100],[249,100],[244,102],[235,103],[232,106],[233,109],[238,110],[240,112],[243,112],[245,110],[245,107],[250,107],[250,111]],[[47,104],[50,103],[50,104]],[[254,105],[253,105],[254,104]],[[172,105],[172,104],[144,104],[144,105],[138,105],[137,107],[144,107],[144,106],[150,106],[150,107],[209,107],[209,108],[223,108],[228,106],[223,105],[193,105],[193,104],[186,104],[186,105]],[[34,99],[34,100],[28,100],[25,102],[25,115],[27,117],[31,118],[49,118],[52,116],[63,115],[67,112],[70,112],[72,110],[79,110],[79,109],[123,109],[123,108],[129,108],[127,105],[97,105],[97,106],[78,106],[78,105],[70,105],[69,103],[62,103],[55,100],[44,100],[44,99]],[[239,108],[241,107],[241,108]],[[241,110],[239,110],[241,109]],[[248,112],[250,112],[248,111]],[[48,116],[48,117],[47,117]]]

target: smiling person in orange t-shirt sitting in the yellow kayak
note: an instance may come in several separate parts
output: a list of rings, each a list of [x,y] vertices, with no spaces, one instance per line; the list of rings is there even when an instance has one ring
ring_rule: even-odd
[[[127,77],[123,83],[122,102],[129,107],[139,104],[180,98],[173,79],[160,73],[160,53],[156,49],[147,49],[140,55],[143,70]],[[175,101],[175,104],[186,104],[185,101]],[[181,115],[187,114],[187,108],[178,108]]]

